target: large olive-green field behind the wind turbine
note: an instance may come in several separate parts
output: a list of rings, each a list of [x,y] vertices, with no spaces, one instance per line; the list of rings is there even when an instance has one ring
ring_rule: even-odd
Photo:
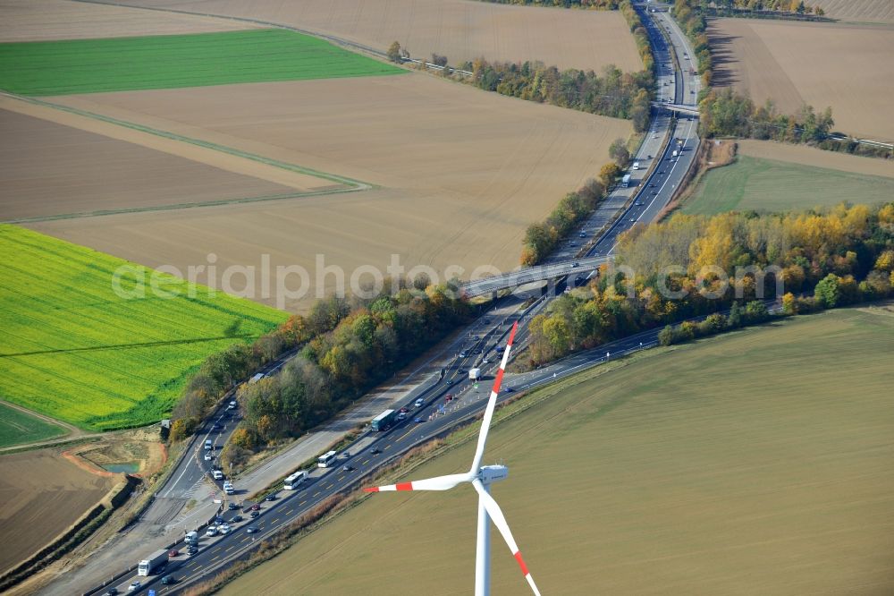
[[[510,467],[493,496],[541,591],[891,593],[892,337],[894,306],[829,311],[534,394],[485,463]],[[465,471],[474,448],[408,479]],[[222,593],[468,594],[476,503],[372,495]],[[492,560],[493,593],[530,593],[497,532]]]

